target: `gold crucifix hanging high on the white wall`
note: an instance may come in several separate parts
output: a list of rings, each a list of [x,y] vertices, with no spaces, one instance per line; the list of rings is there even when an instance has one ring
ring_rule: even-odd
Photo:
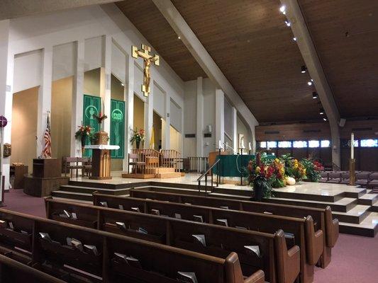
[[[142,85],[142,92],[144,93],[144,96],[148,96],[148,93],[150,93],[150,67],[151,64],[155,64],[156,66],[159,66],[160,64],[160,58],[159,55],[150,55],[151,47],[147,45],[142,45],[142,48],[138,50],[138,47],[132,46],[131,52],[133,55],[133,58],[142,57],[145,65],[145,69],[143,71],[143,85]]]

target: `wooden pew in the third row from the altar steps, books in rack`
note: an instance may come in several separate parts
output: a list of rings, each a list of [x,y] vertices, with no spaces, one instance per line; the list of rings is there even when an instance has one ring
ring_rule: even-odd
[[[224,257],[235,251],[240,258],[244,275],[251,275],[262,269],[265,270],[269,282],[294,282],[299,274],[299,248],[294,246],[289,252],[287,251],[283,231],[275,234],[259,233],[182,219],[170,219],[165,216],[95,207],[88,204],[72,204],[51,198],[45,198],[45,204],[49,219],[75,224],[77,219],[63,216],[62,213],[65,210],[69,214],[74,212],[82,224],[87,222],[88,226],[91,226],[94,221],[97,221],[98,229],[111,233],[185,248],[216,257]],[[90,215],[89,210],[91,210]],[[121,227],[119,223],[123,223],[125,226]],[[140,228],[148,233],[140,233]],[[196,241],[193,235],[205,235],[206,246]],[[235,238],[238,241],[235,241]],[[282,246],[281,250],[275,250],[274,247],[280,241],[284,242],[279,245]],[[259,246],[260,257],[254,253],[248,253],[245,246]],[[291,256],[287,258],[282,253],[291,254]],[[278,268],[279,264],[275,260],[278,256],[287,259],[287,265]]]

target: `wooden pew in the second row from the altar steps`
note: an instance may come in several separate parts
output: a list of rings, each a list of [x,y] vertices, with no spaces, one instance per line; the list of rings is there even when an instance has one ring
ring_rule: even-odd
[[[301,248],[301,282],[311,282],[313,280],[313,265],[316,264],[321,253],[323,253],[323,233],[321,231],[314,231],[311,216],[307,216],[306,219],[298,219],[167,201],[113,197],[95,193],[94,204],[100,205],[100,202],[106,202],[108,207],[113,208],[119,208],[121,204],[122,208],[128,211],[132,210],[132,207],[138,207],[140,212],[148,214],[152,212],[152,209],[170,217],[180,214],[182,219],[187,220],[195,220],[194,215],[201,215],[204,222],[211,224],[220,224],[216,219],[227,219],[229,226],[245,227],[265,233],[274,233],[278,229],[283,229],[287,233],[293,234],[296,241],[295,244]]]

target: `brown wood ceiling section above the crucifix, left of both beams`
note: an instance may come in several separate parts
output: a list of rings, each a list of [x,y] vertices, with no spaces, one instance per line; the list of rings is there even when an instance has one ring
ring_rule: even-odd
[[[121,1],[116,5],[184,81],[206,77],[151,0]]]

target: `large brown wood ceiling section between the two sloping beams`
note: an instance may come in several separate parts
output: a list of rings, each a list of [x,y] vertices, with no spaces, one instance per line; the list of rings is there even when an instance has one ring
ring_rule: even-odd
[[[319,119],[278,0],[174,0],[259,122]]]

